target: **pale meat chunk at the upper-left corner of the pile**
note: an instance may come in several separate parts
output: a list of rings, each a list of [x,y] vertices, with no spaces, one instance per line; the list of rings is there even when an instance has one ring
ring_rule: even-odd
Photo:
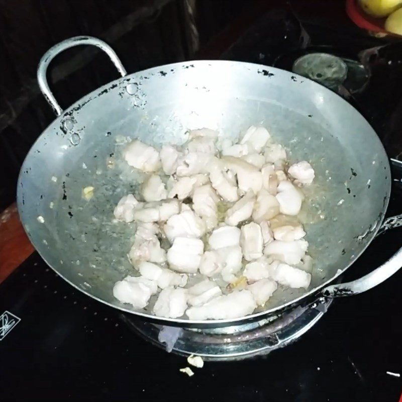
[[[160,169],[159,152],[139,140],[131,141],[123,151],[126,162],[143,172],[155,172]]]

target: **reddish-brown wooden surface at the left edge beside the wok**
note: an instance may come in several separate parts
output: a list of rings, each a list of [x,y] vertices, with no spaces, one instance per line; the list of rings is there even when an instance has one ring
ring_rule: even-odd
[[[0,283],[33,251],[14,203],[0,215]]]

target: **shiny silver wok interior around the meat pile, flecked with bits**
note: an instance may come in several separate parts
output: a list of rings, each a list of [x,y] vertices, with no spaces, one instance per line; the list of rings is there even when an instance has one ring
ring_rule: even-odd
[[[356,260],[382,221],[390,190],[385,151],[366,120],[329,89],[290,72],[193,61],[96,89],[63,112],[30,150],[18,182],[25,230],[69,283],[100,302],[155,319],[153,299],[134,311],[112,294],[117,280],[135,272],[127,258],[135,223],[113,222],[114,206],[139,180],[119,157],[124,138],[160,147],[183,143],[188,129],[208,127],[236,138],[250,125],[265,126],[286,147],[290,162],[307,159],[316,171],[301,215],[314,258],[312,283],[308,291],[280,287],[265,310],[247,320],[274,314],[317,292]],[[94,187],[89,201],[81,195],[86,186]],[[158,318],[184,326],[242,320]]]

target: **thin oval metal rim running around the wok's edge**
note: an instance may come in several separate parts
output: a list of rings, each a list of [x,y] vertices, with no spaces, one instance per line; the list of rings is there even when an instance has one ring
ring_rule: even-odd
[[[160,65],[160,66],[156,66],[156,67],[152,67],[152,68],[148,68],[146,70],[141,70],[141,71],[137,71],[131,74],[128,74],[124,77],[120,77],[116,80],[113,80],[111,82],[108,82],[107,84],[100,86],[96,89],[94,89],[92,92],[87,93],[86,95],[84,95],[83,97],[81,97],[80,99],[78,99],[75,103],[73,103],[71,106],[69,106],[67,109],[65,109],[62,114],[60,116],[57,116],[55,120],[53,120],[47,127],[46,129],[38,136],[38,138],[35,140],[35,142],[32,144],[30,150],[28,151],[24,162],[21,166],[20,169],[20,173],[18,176],[18,180],[17,180],[17,209],[18,209],[18,213],[19,216],[21,218],[21,223],[23,225],[24,231],[26,232],[28,238],[30,239],[32,245],[35,248],[35,251],[38,252],[38,254],[41,256],[41,258],[46,262],[46,264],[52,268],[61,278],[63,278],[66,282],[68,282],[70,285],[72,285],[74,288],[76,288],[77,290],[79,290],[80,292],[84,293],[85,295],[97,300],[98,302],[107,305],[111,308],[120,310],[124,313],[129,313],[132,314],[136,317],[138,317],[139,319],[145,319],[147,321],[151,321],[151,322],[155,322],[158,324],[164,324],[164,325],[170,325],[170,326],[175,326],[175,327],[182,327],[182,328],[218,328],[218,327],[225,327],[225,326],[236,326],[236,325],[241,325],[244,324],[246,322],[255,322],[261,319],[264,319],[266,317],[269,316],[273,316],[273,315],[277,315],[278,313],[280,314],[283,311],[286,311],[288,309],[290,309],[291,307],[294,307],[296,305],[301,305],[303,303],[303,300],[307,299],[307,298],[311,298],[314,295],[317,295],[318,293],[320,293],[320,291],[325,288],[327,285],[329,285],[330,283],[334,282],[340,275],[342,275],[351,265],[353,265],[353,263],[364,253],[364,251],[367,249],[367,247],[371,244],[371,242],[373,241],[373,239],[375,238],[379,228],[381,227],[381,224],[384,220],[385,217],[385,212],[388,208],[388,204],[389,204],[389,198],[390,198],[390,193],[391,193],[391,180],[389,180],[388,183],[388,189],[386,194],[384,194],[384,203],[383,203],[383,208],[381,213],[379,214],[376,222],[376,226],[375,228],[370,232],[370,234],[368,235],[370,237],[370,240],[367,242],[367,244],[353,257],[353,259],[350,260],[350,262],[344,266],[342,269],[338,269],[338,271],[340,270],[340,272],[337,272],[334,276],[332,276],[331,278],[329,278],[328,280],[326,280],[325,282],[323,282],[322,284],[320,284],[318,287],[315,287],[309,291],[307,291],[306,293],[290,300],[289,302],[282,304],[280,306],[274,307],[270,310],[266,310],[263,312],[258,312],[258,313],[253,313],[247,316],[243,316],[243,317],[239,317],[239,318],[234,318],[234,319],[220,319],[220,320],[188,320],[188,319],[183,319],[183,318],[177,318],[177,319],[173,319],[173,318],[165,318],[165,317],[158,317],[152,314],[146,314],[146,313],[142,313],[142,312],[138,312],[135,310],[130,310],[128,308],[125,308],[124,306],[117,306],[115,304],[112,304],[111,302],[107,302],[106,300],[99,298],[91,293],[89,293],[88,291],[86,291],[85,289],[82,289],[81,287],[79,287],[77,284],[73,283],[72,281],[70,281],[69,279],[65,278],[62,274],[60,274],[58,272],[58,270],[56,270],[51,264],[49,264],[49,262],[47,261],[45,255],[43,252],[39,251],[36,247],[35,247],[35,242],[32,240],[31,235],[29,232],[27,232],[25,224],[24,224],[24,220],[23,218],[23,210],[24,210],[24,206],[22,205],[22,195],[21,195],[21,183],[23,182],[23,171],[25,168],[25,165],[27,164],[27,161],[29,160],[31,154],[33,153],[33,149],[36,145],[36,143],[41,139],[41,137],[48,131],[48,129],[53,126],[56,122],[57,123],[61,123],[62,119],[67,117],[74,108],[80,107],[80,105],[84,104],[88,99],[89,102],[92,99],[96,98],[96,94],[99,91],[103,91],[104,89],[110,88],[112,85],[114,84],[119,84],[122,81],[130,81],[132,78],[137,78],[137,76],[141,76],[141,75],[151,75],[151,73],[158,73],[161,69],[163,68],[177,68],[177,67],[187,67],[187,66],[193,66],[195,64],[207,64],[210,65],[211,67],[212,64],[236,64],[236,65],[243,65],[244,67],[249,67],[248,69],[264,69],[266,70],[267,68],[269,68],[270,71],[272,72],[277,72],[280,74],[285,74],[289,77],[289,84],[291,82],[293,82],[290,77],[291,76],[296,76],[300,79],[303,80],[307,80],[309,81],[309,83],[311,85],[313,85],[313,87],[317,87],[319,88],[321,91],[325,91],[327,94],[329,94],[330,96],[335,96],[336,98],[339,98],[341,100],[341,102],[344,103],[346,108],[352,109],[353,113],[357,114],[360,116],[361,119],[363,119],[363,121],[365,121],[368,126],[372,129],[373,133],[375,134],[376,139],[378,140],[378,144],[379,144],[379,148],[382,150],[383,154],[385,155],[386,158],[386,163],[385,166],[387,168],[388,173],[390,174],[390,165],[389,165],[389,158],[388,155],[386,154],[385,148],[381,142],[381,140],[379,139],[377,133],[375,132],[375,130],[371,127],[370,123],[365,119],[365,117],[359,112],[357,111],[355,108],[353,108],[352,105],[350,105],[344,98],[342,98],[340,95],[338,95],[337,93],[333,92],[332,90],[328,89],[327,87],[311,80],[310,78],[304,77],[302,75],[293,73],[291,71],[287,71],[287,70],[283,70],[277,67],[272,67],[272,66],[267,66],[267,65],[263,65],[263,64],[256,64],[256,63],[249,63],[249,62],[243,62],[243,61],[233,61],[233,60],[190,60],[190,61],[185,61],[185,62],[176,62],[176,63],[170,63],[170,64],[164,64],[164,65]],[[299,90],[303,90],[302,88],[300,88]],[[37,242],[36,242],[37,243]]]

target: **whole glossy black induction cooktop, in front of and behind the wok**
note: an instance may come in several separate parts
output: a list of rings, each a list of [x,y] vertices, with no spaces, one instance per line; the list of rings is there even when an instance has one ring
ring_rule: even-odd
[[[222,58],[287,68],[294,55],[327,46],[361,62],[370,83],[349,100],[397,157],[400,53],[360,53],[382,45],[279,10],[262,16]],[[402,213],[401,177],[394,170],[387,216]],[[342,279],[376,268],[401,239],[402,228],[376,238]],[[127,314],[75,290],[34,253],[0,285],[0,400],[395,402],[402,389],[401,282],[399,270],[370,291],[336,299],[302,338],[265,357],[206,362],[188,377],[179,371],[188,365],[184,357],[138,337]]]

